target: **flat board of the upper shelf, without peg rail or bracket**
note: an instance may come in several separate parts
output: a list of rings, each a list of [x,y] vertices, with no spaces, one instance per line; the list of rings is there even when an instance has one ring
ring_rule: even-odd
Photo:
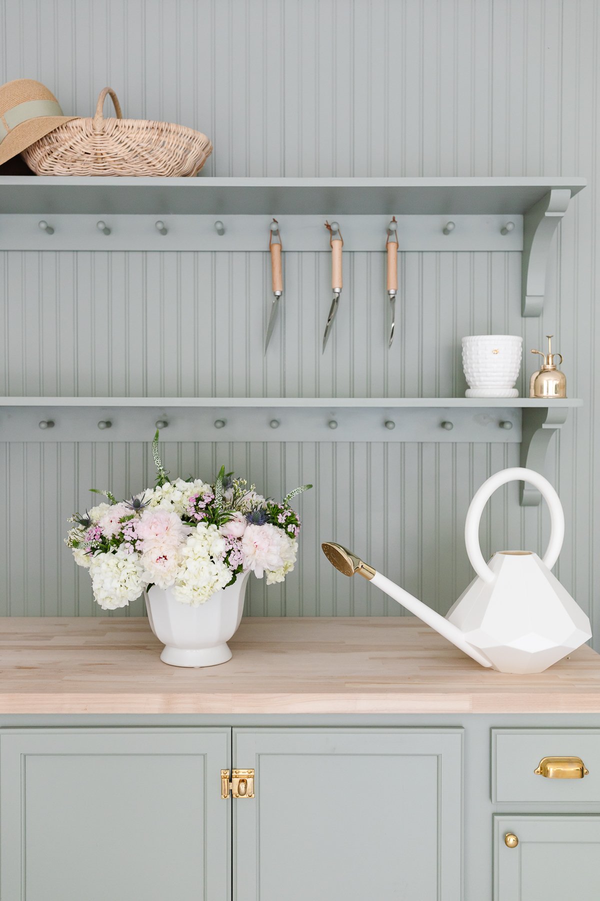
[[[525,214],[578,177],[0,177],[0,214]]]

